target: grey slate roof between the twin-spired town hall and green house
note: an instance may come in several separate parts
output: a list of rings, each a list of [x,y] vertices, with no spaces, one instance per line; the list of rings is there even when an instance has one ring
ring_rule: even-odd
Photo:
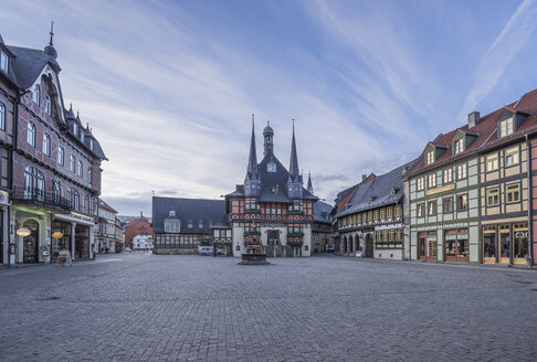
[[[406,163],[388,173],[376,177],[369,182],[358,184],[345,210],[339,211],[335,217],[400,203],[403,198],[402,172],[411,163]],[[394,194],[391,194],[392,189],[396,191]],[[371,198],[372,201],[370,202]]]

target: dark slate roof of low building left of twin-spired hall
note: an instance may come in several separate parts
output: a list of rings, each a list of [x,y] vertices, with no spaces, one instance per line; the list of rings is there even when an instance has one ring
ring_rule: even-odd
[[[210,234],[211,226],[229,226],[224,200],[182,199],[152,196],[152,230],[164,233],[165,220],[170,210],[176,211],[176,217],[181,221],[181,234]],[[192,228],[188,228],[189,221]],[[199,222],[203,227],[199,228]]]

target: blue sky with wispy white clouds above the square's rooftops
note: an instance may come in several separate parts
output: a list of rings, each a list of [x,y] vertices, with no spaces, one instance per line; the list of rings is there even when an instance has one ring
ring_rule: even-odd
[[[102,198],[219,199],[245,175],[251,115],[333,203],[441,132],[537,87],[537,1],[0,0],[0,34],[43,49],[109,161]]]

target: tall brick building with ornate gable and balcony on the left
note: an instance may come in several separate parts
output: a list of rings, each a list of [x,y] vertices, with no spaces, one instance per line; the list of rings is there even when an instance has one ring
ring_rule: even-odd
[[[12,151],[6,157],[2,151],[2,170],[9,168],[6,174],[11,180],[8,238],[14,263],[44,262],[46,254],[54,258],[61,249],[69,249],[73,258],[92,256],[101,162],[106,157],[90,126],[64,106],[52,36],[51,29],[44,51],[3,41],[0,45],[7,64],[7,72],[0,73],[9,81],[1,94],[10,95],[7,107],[12,120],[1,136],[9,142],[15,135]],[[2,181],[3,177],[2,172]],[[6,263],[6,245],[3,252]]]

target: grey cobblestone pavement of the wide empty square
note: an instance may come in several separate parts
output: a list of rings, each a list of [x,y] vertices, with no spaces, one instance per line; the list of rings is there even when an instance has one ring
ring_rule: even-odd
[[[107,255],[0,270],[1,361],[536,361],[537,273]]]

